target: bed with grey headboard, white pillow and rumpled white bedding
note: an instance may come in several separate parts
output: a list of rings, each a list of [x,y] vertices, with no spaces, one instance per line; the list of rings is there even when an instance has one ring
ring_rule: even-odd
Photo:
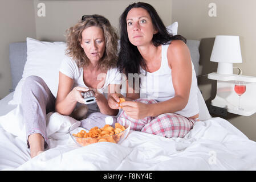
[[[187,45],[198,75],[200,42],[188,40]],[[53,47],[54,51],[49,52]],[[48,43],[30,38],[27,42],[10,44],[13,90],[0,101],[1,170],[256,169],[256,142],[248,139],[229,121],[211,117],[200,90],[200,121],[184,138],[163,138],[130,131],[120,144],[100,142],[78,147],[70,140],[67,130],[76,121],[58,113],[49,113],[47,133],[50,144],[46,151],[30,159],[19,105],[22,80],[28,75],[38,75],[50,87],[54,85],[58,81],[58,64],[54,61],[61,60],[62,55],[58,52],[63,53],[64,48],[62,42]],[[51,88],[51,91],[56,95],[56,88]]]

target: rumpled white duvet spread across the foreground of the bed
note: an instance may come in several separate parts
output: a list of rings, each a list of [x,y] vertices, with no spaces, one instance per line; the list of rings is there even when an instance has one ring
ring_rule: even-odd
[[[5,105],[3,101],[0,101],[1,109]],[[50,119],[56,121],[60,117],[55,114],[55,117]],[[72,122],[67,117],[63,117],[62,121]],[[56,123],[60,125],[60,122],[56,121]],[[184,138],[168,139],[130,131],[127,139],[121,144],[100,142],[85,147],[78,147],[70,140],[66,131],[67,126],[60,128],[55,126],[55,130],[58,131],[51,135],[50,149],[30,159],[26,142],[0,127],[0,169],[256,169],[256,142],[249,140],[241,131],[222,118],[197,122]],[[56,138],[58,140],[55,140]]]

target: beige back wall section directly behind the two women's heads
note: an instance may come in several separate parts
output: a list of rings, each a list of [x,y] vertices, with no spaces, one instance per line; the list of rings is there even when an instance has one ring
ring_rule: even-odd
[[[46,16],[37,15],[38,3],[46,6]],[[131,0],[96,0],[96,1],[39,1],[34,0],[36,38],[48,41],[64,41],[64,32],[73,26],[82,15],[100,14],[109,19],[112,26],[119,29],[119,17],[124,9],[132,4]],[[145,0],[150,3],[166,26],[172,23],[172,0]]]

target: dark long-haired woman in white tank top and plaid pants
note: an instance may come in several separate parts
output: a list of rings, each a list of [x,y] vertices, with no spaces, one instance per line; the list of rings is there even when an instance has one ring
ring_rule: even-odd
[[[168,34],[156,10],[142,2],[124,10],[120,30],[117,67],[127,77],[120,117],[132,121],[131,130],[184,137],[199,116],[196,73],[185,38]],[[139,75],[139,87],[129,84],[131,73]],[[109,98],[112,109],[118,108],[119,97],[124,96]]]

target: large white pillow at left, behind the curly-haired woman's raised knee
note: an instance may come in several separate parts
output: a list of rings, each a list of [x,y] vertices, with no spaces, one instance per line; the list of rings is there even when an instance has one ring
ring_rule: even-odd
[[[15,88],[13,100],[9,104],[20,104],[25,78],[31,75],[41,77],[56,97],[59,84],[59,67],[65,57],[66,43],[41,42],[27,38],[27,61],[22,79]]]

